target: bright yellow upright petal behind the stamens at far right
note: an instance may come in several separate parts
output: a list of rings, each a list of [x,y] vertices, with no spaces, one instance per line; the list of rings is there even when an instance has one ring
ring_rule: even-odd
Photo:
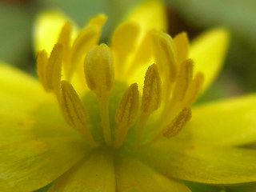
[[[189,58],[194,60],[194,74],[201,71],[205,76],[203,90],[221,70],[228,43],[228,31],[222,28],[206,31],[191,43]]]

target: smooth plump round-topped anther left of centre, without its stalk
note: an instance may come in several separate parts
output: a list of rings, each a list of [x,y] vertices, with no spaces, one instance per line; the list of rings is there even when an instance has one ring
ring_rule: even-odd
[[[114,83],[114,66],[111,50],[106,44],[93,46],[86,55],[86,82],[98,97],[109,94]]]

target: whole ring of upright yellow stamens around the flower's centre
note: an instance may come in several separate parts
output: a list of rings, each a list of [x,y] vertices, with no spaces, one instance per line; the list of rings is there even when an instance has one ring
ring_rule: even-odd
[[[132,127],[136,133],[134,146],[151,144],[162,137],[170,138],[178,134],[190,121],[190,105],[197,98],[203,81],[201,73],[193,77],[194,64],[191,59],[187,59],[186,34],[179,34],[172,39],[162,31],[148,32],[154,47],[155,64],[146,70],[142,97],[139,94],[138,84],[135,82],[122,94],[115,111],[115,126],[113,127],[113,125],[110,126],[109,102],[114,86],[114,64],[117,65],[118,63],[115,62],[120,62],[126,55],[119,54],[119,58],[113,58],[109,46],[95,45],[105,20],[103,15],[93,18],[88,26],[78,34],[72,45],[70,24],[66,23],[62,27],[58,42],[50,56],[48,57],[44,50],[38,53],[38,77],[42,86],[46,91],[56,95],[66,122],[78,130],[91,146],[105,143],[107,146],[118,148],[123,145]],[[138,34],[138,26],[127,22],[118,28],[115,33],[118,36],[114,38],[122,41],[118,31],[126,28],[132,28],[132,32]],[[123,41],[130,43],[127,39]],[[135,46],[130,45],[130,47]],[[119,49],[126,49],[126,47],[122,47],[120,43]],[[83,63],[86,84],[98,99],[104,141],[96,141],[91,133],[88,115],[90,111],[86,110],[81,98],[70,83],[74,73],[78,73],[80,63]],[[120,65],[118,67],[119,70],[122,68]],[[126,67],[118,76],[122,77],[123,74],[127,74],[127,71],[132,71],[132,68],[134,65],[130,65],[130,68]],[[154,115],[153,124],[157,126],[157,134],[145,142],[143,139],[151,115]]]

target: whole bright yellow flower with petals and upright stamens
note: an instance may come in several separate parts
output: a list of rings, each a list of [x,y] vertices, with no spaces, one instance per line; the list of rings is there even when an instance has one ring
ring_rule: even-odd
[[[190,108],[221,67],[226,30],[189,46],[185,33],[162,32],[163,15],[147,2],[110,46],[97,45],[102,14],[79,32],[59,14],[41,16],[38,76],[50,93],[0,66],[2,192],[183,192],[180,179],[256,181],[256,151],[237,147],[256,140],[256,96]]]

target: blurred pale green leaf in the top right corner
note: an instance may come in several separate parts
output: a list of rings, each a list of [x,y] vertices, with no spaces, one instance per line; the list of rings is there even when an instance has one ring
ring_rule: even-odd
[[[254,0],[167,0],[190,22],[201,26],[228,26],[256,43],[256,1]]]

